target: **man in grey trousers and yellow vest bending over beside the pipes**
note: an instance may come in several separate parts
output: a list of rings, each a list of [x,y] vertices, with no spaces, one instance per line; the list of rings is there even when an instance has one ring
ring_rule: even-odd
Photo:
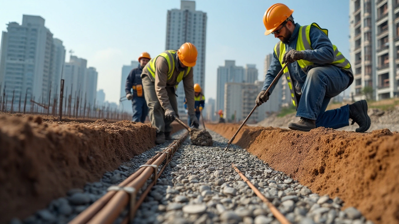
[[[168,50],[154,57],[144,67],[141,79],[144,96],[150,111],[150,120],[156,128],[156,143],[171,140],[170,123],[179,117],[176,87],[183,81],[187,98],[188,116],[191,125],[198,127],[194,112],[193,69],[197,61],[197,48],[192,43],[184,43],[177,51]]]

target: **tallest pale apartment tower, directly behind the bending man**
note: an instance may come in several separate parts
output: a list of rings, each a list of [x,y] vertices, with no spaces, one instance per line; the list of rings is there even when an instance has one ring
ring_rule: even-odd
[[[198,56],[196,66],[193,67],[194,83],[199,83],[202,91],[205,90],[206,23],[206,13],[196,11],[194,1],[181,1],[180,9],[168,10],[165,50],[177,50],[186,42],[196,46]],[[178,86],[176,94],[178,95],[178,113],[182,116],[185,114],[183,84]],[[206,96],[205,92],[204,94]]]

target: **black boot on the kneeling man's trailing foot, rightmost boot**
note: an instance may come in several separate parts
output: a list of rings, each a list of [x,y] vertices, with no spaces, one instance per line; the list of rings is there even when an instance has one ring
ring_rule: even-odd
[[[370,128],[371,120],[367,114],[367,102],[360,100],[349,105],[349,118],[352,119],[352,125],[356,122],[359,128],[356,132],[365,132]]]

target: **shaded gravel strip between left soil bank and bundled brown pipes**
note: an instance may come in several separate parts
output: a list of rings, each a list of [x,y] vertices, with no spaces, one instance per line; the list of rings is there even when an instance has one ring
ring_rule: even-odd
[[[186,130],[180,130],[172,135],[173,138],[177,139],[182,136]],[[19,220],[14,218],[10,221],[10,224],[65,224],[75,218],[80,212],[85,210],[97,199],[107,193],[108,187],[112,185],[118,185],[141,165],[146,163],[148,159],[154,156],[154,151],[160,151],[161,148],[168,146],[172,141],[166,141],[161,145],[156,145],[154,148],[148,151],[136,155],[130,161],[123,163],[112,172],[104,173],[103,177],[98,182],[87,183],[83,189],[71,189],[67,192],[67,195],[62,198],[57,198],[49,203],[47,208],[38,210],[32,216],[29,216],[25,220]],[[150,181],[149,181],[150,182]],[[159,181],[158,183],[162,183]],[[172,184],[172,183],[171,183]],[[144,186],[145,187],[145,186]],[[140,193],[140,191],[139,191]],[[124,214],[127,210],[124,211]],[[119,219],[120,221],[120,219]]]

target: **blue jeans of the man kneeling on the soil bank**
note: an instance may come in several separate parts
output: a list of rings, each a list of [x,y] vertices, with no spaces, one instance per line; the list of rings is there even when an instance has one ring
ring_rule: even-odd
[[[336,66],[310,69],[298,104],[297,117],[316,120],[316,127],[342,128],[349,125],[349,105],[327,110],[330,99],[348,88],[350,77]]]

